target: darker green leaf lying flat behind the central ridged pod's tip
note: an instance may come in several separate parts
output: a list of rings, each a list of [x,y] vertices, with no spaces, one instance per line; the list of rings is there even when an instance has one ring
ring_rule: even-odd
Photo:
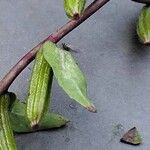
[[[26,104],[17,100],[14,102],[11,112],[10,120],[13,131],[16,133],[28,133],[40,130],[48,130],[58,128],[66,125],[68,119],[55,113],[47,113],[42,118],[37,128],[31,128],[30,122],[26,117]]]

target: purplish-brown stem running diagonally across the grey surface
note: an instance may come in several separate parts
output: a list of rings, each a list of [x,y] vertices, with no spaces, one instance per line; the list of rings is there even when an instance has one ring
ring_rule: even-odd
[[[36,47],[30,50],[0,81],[0,94],[6,92],[17,76],[27,67],[27,65],[35,58],[37,51],[46,41],[57,43],[65,35],[79,26],[82,22],[93,15],[97,10],[104,6],[109,0],[95,0],[84,11],[83,15],[78,20],[71,20],[48,38],[39,43]]]

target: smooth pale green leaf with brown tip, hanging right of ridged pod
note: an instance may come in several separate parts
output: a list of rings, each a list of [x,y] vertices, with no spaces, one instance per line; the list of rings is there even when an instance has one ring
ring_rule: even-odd
[[[95,106],[87,96],[85,77],[70,52],[58,48],[52,42],[43,45],[44,57],[53,69],[59,85],[86,109],[96,112]]]

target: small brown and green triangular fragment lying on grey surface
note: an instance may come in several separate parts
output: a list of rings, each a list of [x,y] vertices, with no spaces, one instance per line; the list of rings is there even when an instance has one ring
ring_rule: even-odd
[[[120,139],[120,142],[130,145],[140,145],[142,144],[142,138],[137,128],[134,127],[123,135],[123,137]]]

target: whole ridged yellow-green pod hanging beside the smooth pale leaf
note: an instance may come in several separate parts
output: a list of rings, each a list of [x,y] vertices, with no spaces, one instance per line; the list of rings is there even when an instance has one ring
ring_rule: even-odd
[[[52,80],[53,71],[45,60],[41,48],[35,58],[27,98],[26,114],[33,128],[39,125],[45,112],[47,112]]]

